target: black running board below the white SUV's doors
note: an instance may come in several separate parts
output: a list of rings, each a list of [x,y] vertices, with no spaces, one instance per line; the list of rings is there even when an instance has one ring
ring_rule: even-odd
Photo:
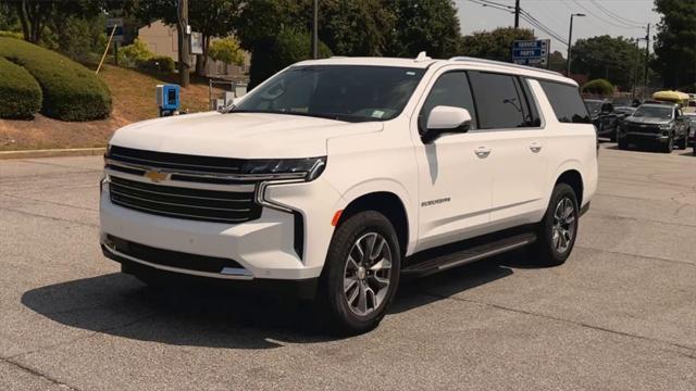
[[[461,266],[470,262],[487,258],[517,250],[536,241],[536,235],[531,232],[517,234],[493,241],[481,242],[481,240],[469,243],[464,241],[448,244],[436,250],[426,250],[410,256],[408,266],[401,269],[403,276],[427,276],[434,273],[447,270]],[[449,251],[447,251],[449,250]]]

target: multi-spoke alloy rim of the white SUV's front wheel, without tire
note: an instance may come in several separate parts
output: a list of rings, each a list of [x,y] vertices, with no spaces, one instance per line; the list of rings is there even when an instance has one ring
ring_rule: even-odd
[[[344,270],[344,295],[350,311],[365,316],[387,298],[391,280],[391,249],[377,232],[368,232],[352,244]]]

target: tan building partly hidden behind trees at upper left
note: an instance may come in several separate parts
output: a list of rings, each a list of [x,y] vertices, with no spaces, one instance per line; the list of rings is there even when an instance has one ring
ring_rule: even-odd
[[[152,22],[150,25],[138,29],[138,38],[145,42],[151,52],[158,55],[166,55],[174,61],[178,59],[178,39],[176,37],[176,28],[165,25],[162,21]],[[196,56],[192,56],[195,68]],[[225,78],[234,80],[248,79],[249,65],[251,55],[244,52],[244,64],[225,64],[222,61],[213,61],[208,59],[206,75],[208,77]]]

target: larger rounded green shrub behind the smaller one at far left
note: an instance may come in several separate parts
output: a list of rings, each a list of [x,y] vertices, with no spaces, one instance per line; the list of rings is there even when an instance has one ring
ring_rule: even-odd
[[[111,92],[92,71],[61,54],[13,38],[0,38],[0,56],[23,66],[39,83],[44,115],[63,121],[109,116]]]

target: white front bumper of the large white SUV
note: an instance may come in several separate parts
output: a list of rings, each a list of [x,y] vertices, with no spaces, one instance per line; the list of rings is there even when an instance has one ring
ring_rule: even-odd
[[[265,198],[294,212],[263,207],[259,218],[241,224],[172,218],[115,205],[111,202],[109,186],[102,185],[100,243],[104,254],[112,260],[126,260],[162,273],[237,280],[319,277],[333,235],[331,219],[341,203],[340,195],[320,178],[311,182],[269,186]],[[194,264],[161,264],[119,251],[110,236],[153,249],[190,254],[190,262],[199,256],[215,257],[235,262],[239,267],[201,272]],[[300,254],[298,238],[302,241]]]

